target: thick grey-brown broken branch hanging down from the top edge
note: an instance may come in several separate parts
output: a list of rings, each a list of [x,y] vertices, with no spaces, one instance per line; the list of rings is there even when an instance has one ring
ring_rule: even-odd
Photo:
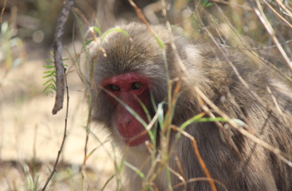
[[[67,0],[64,3],[60,17],[57,22],[55,36],[54,36],[54,59],[56,69],[56,101],[53,108],[53,115],[63,108],[64,101],[64,66],[62,61],[62,37],[64,34],[64,25],[68,19],[69,11],[75,0]]]

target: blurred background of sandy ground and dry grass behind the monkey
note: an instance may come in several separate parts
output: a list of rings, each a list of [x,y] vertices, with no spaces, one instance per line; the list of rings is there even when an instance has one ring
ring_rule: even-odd
[[[165,23],[160,1],[133,1],[151,24]],[[194,38],[209,37],[202,30],[198,17],[216,41],[238,51],[255,53],[252,60],[260,60],[259,67],[272,63],[279,72],[291,77],[281,54],[254,13],[249,1],[243,0],[171,0],[167,2],[167,18],[174,30]],[[254,1],[256,2],[256,1]],[[275,36],[280,43],[292,39],[290,0],[259,0]],[[65,102],[63,109],[52,115],[53,93],[42,92],[48,79],[43,65],[52,63],[50,52],[55,26],[63,5],[60,0],[0,0],[0,190],[41,190],[49,176],[63,138]],[[76,0],[79,9],[91,26],[102,32],[122,23],[139,22],[127,0]],[[281,18],[279,16],[280,15]],[[81,28],[70,12],[63,36],[63,58],[74,55],[74,46],[81,50]],[[81,33],[83,31],[83,33]],[[74,35],[73,35],[74,34]],[[73,39],[74,37],[74,39]],[[292,59],[292,43],[283,45]],[[67,51],[66,51],[67,49]],[[263,59],[261,59],[263,58]],[[264,60],[264,61],[262,61]],[[86,190],[116,190],[119,176],[115,162],[118,156],[106,136],[92,131],[88,152],[93,153],[84,162],[87,107],[81,91],[82,82],[75,71],[75,62],[64,61],[69,88],[67,137],[57,171],[47,190],[81,190],[82,172]],[[270,66],[268,66],[270,67]],[[105,146],[101,142],[106,142]]]

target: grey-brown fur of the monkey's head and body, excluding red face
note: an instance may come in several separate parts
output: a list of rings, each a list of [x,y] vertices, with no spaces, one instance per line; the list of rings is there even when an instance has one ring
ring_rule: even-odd
[[[167,29],[163,26],[152,27],[166,45],[170,77],[175,78],[180,73],[180,67],[172,53],[171,38],[168,36]],[[127,31],[133,42],[131,43],[122,33],[112,32],[106,36],[102,47],[105,49],[107,57],[100,54],[95,61],[95,83],[100,84],[103,79],[113,75],[137,72],[151,79],[153,96],[156,104],[159,104],[167,98],[168,91],[161,48],[153,35],[142,24],[131,23],[119,26],[119,28]],[[202,112],[193,90],[193,85],[197,85],[230,118],[243,120],[236,109],[234,104],[236,103],[245,114],[248,120],[246,123],[261,135],[262,140],[291,154],[289,127],[292,127],[292,122],[290,119],[284,123],[278,113],[272,112],[258,103],[214,46],[189,40],[177,34],[173,35],[178,52],[191,77],[182,84],[182,94],[178,99],[172,124],[179,127],[186,120]],[[92,57],[97,53],[97,49],[97,43],[90,44]],[[267,71],[259,70],[257,66],[248,63],[238,53],[230,52],[228,56],[243,79],[263,101],[274,106],[266,89],[266,85],[268,85],[280,109],[291,116],[292,91],[289,86]],[[231,97],[227,95],[227,89],[231,93]],[[118,132],[113,122],[113,108],[108,104],[104,94],[98,91],[101,90],[98,89],[93,94],[92,120],[110,134],[114,143],[123,152],[125,145],[117,136]],[[226,98],[224,102],[221,100],[222,96]],[[146,106],[154,116],[152,104],[148,103]],[[237,145],[244,163],[228,141],[222,140],[218,127],[214,123],[195,123],[189,125],[185,131],[196,139],[198,149],[211,177],[223,182],[229,190],[292,190],[291,167],[238,131],[232,128],[227,129],[229,136]],[[175,134],[176,132],[172,132],[171,143]],[[181,137],[176,146],[176,153],[186,179],[205,177],[188,138]],[[147,174],[151,166],[150,160],[147,160],[149,156],[150,154],[144,146],[138,146],[131,147],[125,157],[128,163]],[[170,158],[169,165],[179,172],[174,156]],[[141,179],[133,170],[126,168],[125,175],[130,190],[141,188]],[[171,178],[173,185],[180,182],[173,174],[171,174]],[[165,172],[162,172],[154,183],[159,190],[168,189]],[[223,190],[223,187],[218,184],[216,187],[218,190]],[[183,186],[180,186],[175,190],[182,189]],[[187,184],[186,190],[210,190],[210,185],[207,181],[194,181]]]

